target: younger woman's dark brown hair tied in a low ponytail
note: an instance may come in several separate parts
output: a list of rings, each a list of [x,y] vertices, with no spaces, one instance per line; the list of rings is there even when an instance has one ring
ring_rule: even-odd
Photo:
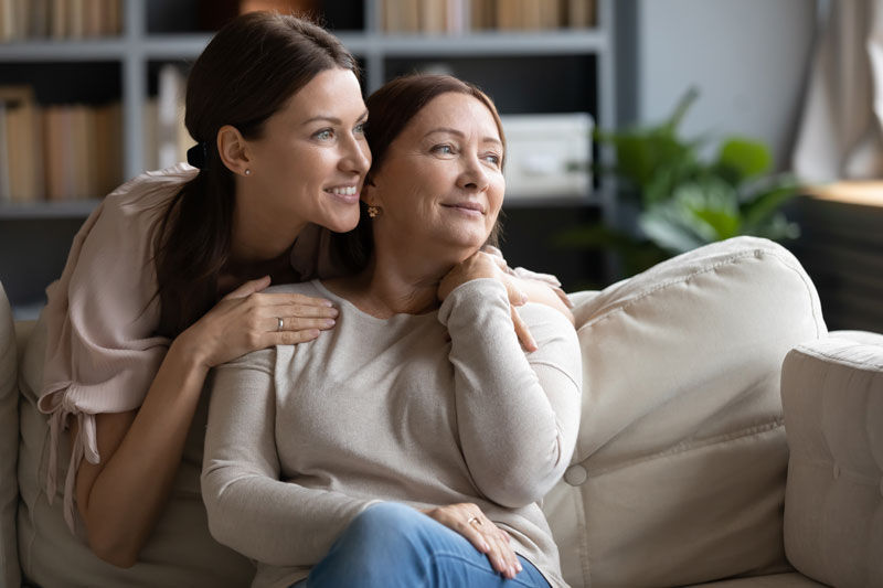
[[[234,19],[193,64],[184,122],[199,143],[200,173],[174,196],[153,235],[159,334],[177,336],[219,300],[228,260],[235,184],[217,153],[221,127],[258,139],[266,120],[317,74],[359,67],[333,35],[304,19],[254,12]]]

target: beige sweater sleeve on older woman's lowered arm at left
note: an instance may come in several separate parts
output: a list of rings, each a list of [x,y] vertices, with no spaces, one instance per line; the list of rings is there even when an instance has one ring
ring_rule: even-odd
[[[202,496],[217,542],[265,564],[311,566],[379,501],[279,480],[275,356],[257,351],[214,371]]]

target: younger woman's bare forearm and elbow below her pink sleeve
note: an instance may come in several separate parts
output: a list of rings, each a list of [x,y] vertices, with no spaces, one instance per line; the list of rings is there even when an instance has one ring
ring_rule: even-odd
[[[138,411],[98,420],[102,462],[82,463],[77,503],[89,546],[103,559],[136,563],[171,492],[206,372],[172,344]],[[118,445],[103,451],[103,442]]]

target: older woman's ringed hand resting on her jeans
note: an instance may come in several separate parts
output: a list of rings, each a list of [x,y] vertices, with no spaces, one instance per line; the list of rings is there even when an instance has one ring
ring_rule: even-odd
[[[477,504],[464,502],[421,512],[469,539],[476,549],[488,556],[490,565],[509,579],[521,571],[518,555],[509,545],[509,534],[485,516]]]

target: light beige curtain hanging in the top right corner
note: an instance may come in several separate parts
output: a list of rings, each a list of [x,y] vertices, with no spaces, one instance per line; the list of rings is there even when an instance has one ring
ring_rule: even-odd
[[[794,152],[809,182],[883,178],[883,0],[831,0]]]

